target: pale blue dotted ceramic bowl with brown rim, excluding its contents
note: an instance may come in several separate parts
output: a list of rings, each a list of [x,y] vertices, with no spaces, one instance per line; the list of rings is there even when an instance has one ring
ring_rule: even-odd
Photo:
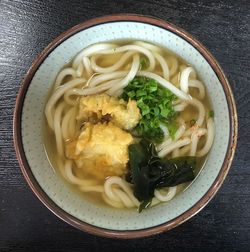
[[[101,41],[140,39],[162,45],[193,65],[215,111],[216,133],[205,167],[172,201],[142,213],[104,208],[65,186],[47,159],[42,125],[48,92],[58,71],[81,49]],[[29,186],[62,220],[83,231],[137,238],[167,231],[198,213],[222,185],[237,141],[237,113],[230,85],[217,61],[193,36],[166,21],[140,15],[111,15],[78,24],[52,41],[25,76],[14,112],[16,155]]]

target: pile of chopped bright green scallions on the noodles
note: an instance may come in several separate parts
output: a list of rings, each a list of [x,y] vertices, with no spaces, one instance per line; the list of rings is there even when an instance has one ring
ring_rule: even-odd
[[[140,108],[142,118],[135,129],[138,135],[156,143],[161,142],[164,133],[160,124],[171,127],[177,115],[172,105],[176,96],[153,79],[135,77],[124,88],[121,97],[125,101],[136,100]],[[172,127],[172,136],[176,130],[176,127]]]

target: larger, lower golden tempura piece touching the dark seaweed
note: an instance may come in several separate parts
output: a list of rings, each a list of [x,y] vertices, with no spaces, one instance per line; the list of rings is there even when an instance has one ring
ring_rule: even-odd
[[[86,123],[76,144],[68,153],[78,168],[98,179],[121,176],[126,171],[128,146],[133,137],[113,123]],[[75,155],[72,150],[75,149]]]

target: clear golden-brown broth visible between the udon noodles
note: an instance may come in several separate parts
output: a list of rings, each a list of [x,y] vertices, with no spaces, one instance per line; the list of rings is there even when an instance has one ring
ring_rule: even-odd
[[[128,44],[131,45],[134,43],[134,41],[130,41],[130,40],[128,40],[128,41],[111,41],[111,43],[116,44],[117,48],[118,48],[117,50],[119,50],[120,47],[126,46]],[[180,89],[181,75],[183,74],[183,71],[189,67],[189,64],[187,62],[185,62],[183,59],[181,59],[178,55],[175,55],[174,53],[172,53],[171,51],[169,51],[165,48],[158,47],[158,46],[155,47],[155,45],[151,45],[151,47],[150,46],[143,47],[143,43],[144,42],[139,42],[136,45],[140,46],[144,49],[146,48],[149,51],[151,50],[152,55],[154,55],[156,57],[156,59],[157,59],[157,57],[159,58],[159,56],[157,56],[157,55],[160,54],[161,57],[163,59],[165,59],[166,64],[169,66],[169,82],[172,83],[176,88]],[[108,49],[106,49],[106,50],[108,50]],[[114,50],[114,52],[115,52],[115,49],[110,49],[110,50]],[[128,50],[128,52],[125,52],[125,53],[129,53],[129,50]],[[97,54],[94,54],[94,56],[89,57],[90,59],[88,59],[87,57],[85,57],[84,59],[86,60],[86,62],[90,62],[90,63],[92,61],[94,61],[94,63],[96,65],[98,65],[98,67],[101,68],[100,71],[102,71],[102,69],[104,69],[104,68],[115,66],[115,64],[117,64],[117,62],[122,57],[125,57],[124,56],[125,53],[124,52],[121,52],[121,53],[118,52],[115,54],[98,54],[97,53]],[[131,55],[133,53],[134,53],[134,51],[132,50]],[[133,57],[135,58],[135,56],[133,56]],[[142,62],[143,62],[143,60],[146,59],[146,56],[143,55],[142,53],[139,53],[139,57],[140,57],[140,67],[142,68]],[[129,69],[131,69],[134,65],[134,61],[131,62],[131,58],[132,58],[132,56],[128,57],[127,60],[125,60],[125,63],[123,64],[123,66],[118,69],[120,72],[130,71]],[[72,66],[74,66],[76,59],[77,58],[73,59],[70,63],[65,65],[65,67],[63,67],[63,69],[60,72],[62,72],[65,69],[67,70],[69,68],[73,69],[74,67],[72,67]],[[83,62],[84,62],[84,60],[83,60]],[[156,60],[156,62],[157,63],[156,63],[154,70],[152,72],[154,74],[159,75],[159,76],[163,76],[164,75],[163,66],[159,60],[158,61]],[[81,67],[80,64],[83,65],[84,63],[79,63],[77,68],[72,71],[75,71],[76,72],[75,75],[77,75],[77,71],[79,70],[79,72],[80,72],[80,70],[83,68],[83,70],[81,70],[82,71],[81,75],[79,77],[76,77],[75,75],[68,74],[64,78],[62,78],[61,82],[59,84],[60,87],[56,88],[56,89],[52,89],[51,92],[49,93],[48,103],[52,99],[51,97],[53,97],[53,95],[56,92],[58,92],[58,90],[60,88],[62,89],[62,84],[65,87],[65,85],[68,85],[68,83],[74,79],[86,78],[86,79],[88,79],[88,82],[91,85],[91,81],[97,80],[97,78],[95,79],[95,77],[101,76],[101,74],[103,74],[103,75],[105,74],[105,73],[100,73],[100,72],[98,74],[96,74],[95,71],[91,71],[92,74],[88,75],[88,69],[87,69],[88,66],[84,65],[83,67]],[[86,64],[88,64],[88,63],[86,63]],[[145,64],[148,64],[149,66],[146,66],[146,67],[150,68],[150,60],[147,60]],[[176,70],[174,68],[176,68]],[[118,70],[114,71],[114,72],[117,72],[117,74],[118,74]],[[141,71],[141,70],[139,70],[139,71]],[[172,74],[171,74],[171,71],[172,71]],[[118,79],[120,80],[120,82],[122,82],[122,78],[119,77]],[[189,75],[188,80],[189,79],[194,80],[193,81],[194,83],[200,83],[200,81],[201,81],[197,75],[195,76],[195,74],[192,74],[192,73]],[[105,80],[105,81],[107,82],[108,80]],[[98,84],[96,86],[100,87],[100,86],[104,85],[105,81],[101,82],[100,84]],[[79,85],[73,86],[72,90],[74,88],[78,88],[78,87],[80,87],[81,90],[85,90],[86,88],[83,89],[83,87],[81,85],[82,84],[79,83]],[[199,96],[200,89],[193,88],[192,86],[190,86],[189,89],[190,89],[189,94],[193,98],[198,100],[197,97]],[[104,93],[104,92],[98,92],[98,93]],[[67,104],[67,102],[65,102],[66,101],[65,94],[66,94],[66,92],[64,93],[64,95],[61,95],[61,97],[58,100],[56,100],[56,102],[54,102],[53,109],[51,109],[51,111],[52,111],[51,115],[53,114],[53,121],[52,121],[53,129],[51,128],[51,125],[49,125],[49,123],[48,123],[49,122],[48,113],[46,114],[46,117],[44,120],[44,125],[43,125],[44,147],[45,147],[45,151],[47,153],[48,159],[51,163],[51,166],[55,170],[55,172],[58,173],[58,175],[62,176],[63,180],[65,181],[65,184],[67,184],[67,186],[70,186],[73,193],[80,193],[85,199],[87,199],[91,202],[94,202],[96,204],[101,204],[103,206],[104,205],[105,206],[111,205],[112,207],[122,208],[121,206],[122,206],[122,204],[124,204],[124,202],[122,200],[121,200],[121,203],[119,203],[119,204],[117,202],[113,202],[112,199],[110,199],[110,198],[104,200],[103,194],[105,194],[106,191],[105,191],[105,188],[102,189],[102,187],[103,187],[105,181],[107,181],[110,177],[112,177],[112,175],[107,176],[107,178],[105,178],[105,179],[100,179],[100,178],[97,179],[93,174],[86,173],[86,172],[84,172],[84,169],[77,167],[76,161],[74,161],[74,160],[70,161],[71,164],[69,166],[66,165],[66,163],[69,161],[70,158],[68,158],[67,155],[65,154],[65,150],[66,150],[65,148],[67,148],[67,145],[69,145],[68,144],[69,142],[73,142],[73,143],[76,142],[75,146],[77,146],[77,143],[78,143],[77,139],[79,139],[79,136],[82,132],[82,127],[85,127],[83,125],[84,124],[86,125],[86,123],[84,120],[78,120],[78,119],[76,120],[77,114],[79,113],[79,103],[81,102],[81,97],[83,97],[83,96],[78,95],[76,93],[73,93],[73,95],[71,95],[71,98],[70,98],[71,100],[69,100],[69,103],[72,102],[73,100],[76,102],[75,102],[75,105],[70,105],[70,104]],[[93,94],[91,94],[91,95],[93,95]],[[182,100],[178,104],[181,104],[181,103],[182,103]],[[205,112],[206,112],[205,117],[207,118],[208,112],[211,111],[211,104],[209,102],[209,98],[208,98],[207,94],[205,95],[205,97],[203,99],[201,99],[201,103],[202,103],[203,108],[205,109]],[[177,106],[178,106],[178,104],[177,104]],[[61,111],[61,116],[59,116],[60,120],[61,120],[59,122],[59,127],[60,127],[59,131],[61,131],[62,133],[60,134],[60,136],[58,138],[58,137],[56,137],[56,134],[58,134],[58,131],[56,130],[56,127],[55,127],[56,121],[54,120],[54,118],[56,117],[56,113],[58,112],[58,107],[61,105],[62,105],[62,109],[61,109],[62,111]],[[49,107],[49,106],[47,105],[47,107]],[[47,107],[45,109],[45,112],[49,111],[47,109]],[[72,109],[72,113],[69,112],[70,109]],[[199,106],[197,108],[194,108],[194,105],[192,103],[186,105],[186,107],[182,111],[179,112],[179,115],[177,116],[176,121],[178,121],[179,119],[180,119],[179,121],[181,121],[181,120],[182,120],[182,122],[184,121],[185,130],[191,129],[193,127],[192,121],[196,120],[198,118],[195,123],[195,125],[196,125],[199,120],[199,117],[200,117],[200,110],[199,109],[200,109]],[[68,113],[69,119],[68,119],[68,124],[65,124],[65,125],[66,125],[68,132],[66,132],[67,134],[64,134],[64,135],[71,136],[68,138],[63,135],[63,123],[64,123],[63,120],[65,120],[65,121],[67,120],[67,119],[65,119],[67,113]],[[73,114],[75,115],[75,117],[72,116]],[[79,117],[79,115],[78,115],[78,117]],[[208,121],[208,119],[206,119],[206,118],[204,119],[204,122],[199,127],[197,126],[197,129],[204,128],[204,132],[209,131],[209,129],[206,126],[206,123]],[[93,121],[93,118],[91,120]],[[94,121],[95,120],[99,120],[99,119],[94,119]],[[74,124],[72,124],[72,121],[74,121]],[[99,121],[99,123],[100,123],[100,121]],[[93,127],[95,127],[95,126],[93,126]],[[70,128],[74,129],[73,134],[70,132]],[[130,130],[125,130],[124,132],[130,132]],[[184,134],[185,134],[185,132],[184,132]],[[205,134],[208,134],[208,133],[205,133]],[[182,137],[182,138],[184,139],[185,137]],[[180,138],[180,139],[182,139],[182,138]],[[207,138],[208,138],[208,136],[207,136]],[[59,141],[58,139],[60,139],[60,141],[61,141],[63,155],[62,154],[60,155],[60,151],[59,151],[60,148],[58,148],[60,143],[58,144],[58,141]],[[191,136],[190,136],[190,139],[191,139]],[[174,139],[172,139],[172,140],[170,139],[170,141],[175,142]],[[206,146],[207,141],[208,140],[206,139],[205,136],[199,136],[199,141],[197,142],[197,150],[202,152],[202,148],[204,148],[204,146]],[[190,145],[191,145],[191,143],[190,143]],[[188,147],[188,145],[186,145],[186,147]],[[178,148],[178,150],[173,150],[170,153],[166,154],[165,157],[167,159],[171,159],[172,157],[175,157],[176,155],[178,156],[186,147],[183,146],[183,147]],[[199,152],[199,151],[197,151],[197,152]],[[188,153],[190,153],[190,150],[188,151]],[[205,161],[206,161],[206,157],[207,157],[207,153],[201,157],[197,157],[197,168],[194,171],[195,176],[197,176],[199,171],[204,166]],[[65,168],[65,167],[70,167],[70,168]],[[73,174],[73,179],[71,179],[71,177],[70,177],[71,174]],[[122,175],[121,178],[124,179],[124,175]],[[83,182],[81,182],[81,181],[83,181]],[[84,181],[86,182],[87,186],[85,186]],[[126,184],[127,182],[124,182],[124,183]],[[190,183],[192,183],[192,182],[187,182],[187,183],[182,183],[180,185],[177,185],[175,195],[177,195],[178,193],[185,190]],[[82,187],[85,187],[85,189],[84,189],[85,192],[82,191]],[[92,187],[93,188],[95,187],[96,189],[93,189],[93,190],[86,189],[86,188],[92,188]],[[110,188],[113,188],[115,190],[116,189],[122,190],[121,189],[122,187],[120,188],[118,186],[118,184],[115,184],[115,185],[113,185],[113,187],[110,187]],[[123,191],[123,193],[124,193],[124,191]],[[126,193],[126,190],[125,190],[125,193]],[[107,197],[107,196],[105,196],[105,197]],[[116,195],[116,197],[118,197],[118,196]],[[133,199],[131,201],[133,202]],[[128,203],[128,205],[129,204],[130,203]],[[125,205],[123,205],[123,208],[130,208],[130,207],[127,207],[125,204]]]

